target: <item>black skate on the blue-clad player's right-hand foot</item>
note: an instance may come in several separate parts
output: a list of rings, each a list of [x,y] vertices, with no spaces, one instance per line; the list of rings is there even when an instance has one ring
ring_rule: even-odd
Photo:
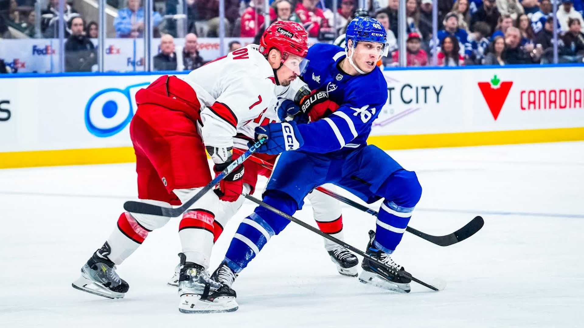
[[[361,271],[361,274],[359,275],[359,281],[364,284],[371,284],[390,291],[409,292],[411,290],[409,287],[411,280],[397,274],[398,271],[405,271],[404,267],[398,266],[398,264],[391,259],[390,254],[384,253],[373,246],[373,240],[375,239],[375,232],[373,230],[369,231],[369,238],[367,254],[381,263],[384,263],[388,267],[394,268],[394,270],[388,271],[384,267],[378,266],[365,257],[363,258],[363,263],[361,263],[363,271]]]

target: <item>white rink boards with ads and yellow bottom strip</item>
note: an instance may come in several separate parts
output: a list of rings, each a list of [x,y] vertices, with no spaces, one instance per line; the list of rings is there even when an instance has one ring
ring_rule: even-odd
[[[388,101],[369,139],[382,149],[584,140],[582,66],[384,75]],[[134,95],[158,76],[2,76],[0,168],[133,161]]]

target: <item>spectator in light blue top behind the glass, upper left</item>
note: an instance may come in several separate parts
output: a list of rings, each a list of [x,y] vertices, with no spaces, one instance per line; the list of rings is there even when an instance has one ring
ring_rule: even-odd
[[[162,20],[159,13],[152,14],[152,25],[158,26]],[[116,28],[116,37],[143,37],[144,36],[144,7],[140,0],[128,0],[126,8],[117,12],[113,22]]]

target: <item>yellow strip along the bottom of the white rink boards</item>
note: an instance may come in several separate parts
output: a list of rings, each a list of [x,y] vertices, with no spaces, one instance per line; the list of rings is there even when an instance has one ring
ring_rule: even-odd
[[[439,134],[372,135],[367,141],[369,144],[377,145],[381,149],[391,150],[579,140],[584,140],[584,127]],[[132,147],[0,152],[0,169],[129,162],[135,162],[134,149]]]

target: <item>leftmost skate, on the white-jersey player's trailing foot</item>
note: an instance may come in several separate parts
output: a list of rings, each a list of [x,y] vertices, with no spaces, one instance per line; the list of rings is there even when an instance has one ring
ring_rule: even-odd
[[[81,268],[81,277],[72,287],[106,298],[123,298],[130,286],[117,275],[116,265],[107,258],[110,253],[110,246],[105,242]]]

